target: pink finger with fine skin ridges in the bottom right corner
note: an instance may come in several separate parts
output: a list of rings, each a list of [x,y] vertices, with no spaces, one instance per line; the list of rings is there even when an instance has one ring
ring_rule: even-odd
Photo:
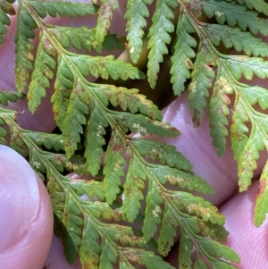
[[[239,193],[220,208],[226,215],[225,227],[230,231],[227,245],[239,254],[240,269],[266,268],[268,264],[268,223],[256,228],[253,221],[257,192],[258,182],[255,181],[247,192]]]

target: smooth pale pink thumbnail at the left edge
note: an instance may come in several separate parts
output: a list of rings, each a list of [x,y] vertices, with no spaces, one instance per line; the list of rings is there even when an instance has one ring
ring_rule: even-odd
[[[20,240],[38,209],[36,174],[22,156],[0,145],[0,252]]]

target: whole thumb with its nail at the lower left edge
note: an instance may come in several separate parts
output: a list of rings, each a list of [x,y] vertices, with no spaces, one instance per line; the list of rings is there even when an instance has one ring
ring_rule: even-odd
[[[0,267],[42,268],[53,234],[46,188],[27,161],[0,145]]]

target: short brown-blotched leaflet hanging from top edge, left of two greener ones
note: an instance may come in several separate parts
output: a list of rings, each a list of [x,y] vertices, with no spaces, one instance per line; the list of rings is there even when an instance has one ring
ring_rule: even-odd
[[[113,10],[119,8],[118,0],[102,0],[102,4],[98,10],[98,18],[96,23],[96,43],[101,45],[113,19]]]

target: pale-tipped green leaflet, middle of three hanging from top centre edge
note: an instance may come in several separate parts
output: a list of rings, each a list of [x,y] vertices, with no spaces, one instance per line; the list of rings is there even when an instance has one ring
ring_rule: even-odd
[[[127,40],[129,41],[130,58],[133,63],[137,63],[142,51],[142,38],[147,26],[146,17],[149,16],[147,4],[152,4],[154,0],[130,0],[126,6],[125,19],[128,20],[126,31],[128,32]]]

